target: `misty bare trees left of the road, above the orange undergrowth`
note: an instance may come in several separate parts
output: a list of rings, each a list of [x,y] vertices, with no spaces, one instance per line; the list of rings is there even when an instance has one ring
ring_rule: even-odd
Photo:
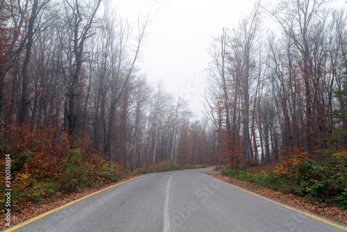
[[[87,141],[128,172],[212,160],[208,120],[193,122],[187,102],[137,68],[148,18],[130,26],[101,0],[1,0],[0,15],[1,138],[11,147],[17,125],[58,129],[72,149]]]

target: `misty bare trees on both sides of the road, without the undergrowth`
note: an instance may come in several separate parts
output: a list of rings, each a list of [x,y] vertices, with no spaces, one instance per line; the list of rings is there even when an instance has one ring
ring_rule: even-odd
[[[346,81],[347,17],[325,2],[257,2],[225,28],[210,49],[206,117],[194,120],[137,68],[148,19],[130,26],[101,0],[1,0],[1,138],[14,124],[58,130],[128,172],[164,160],[247,167],[336,147],[325,139],[347,125],[332,118],[344,108],[334,92]],[[280,33],[264,30],[269,16]]]

